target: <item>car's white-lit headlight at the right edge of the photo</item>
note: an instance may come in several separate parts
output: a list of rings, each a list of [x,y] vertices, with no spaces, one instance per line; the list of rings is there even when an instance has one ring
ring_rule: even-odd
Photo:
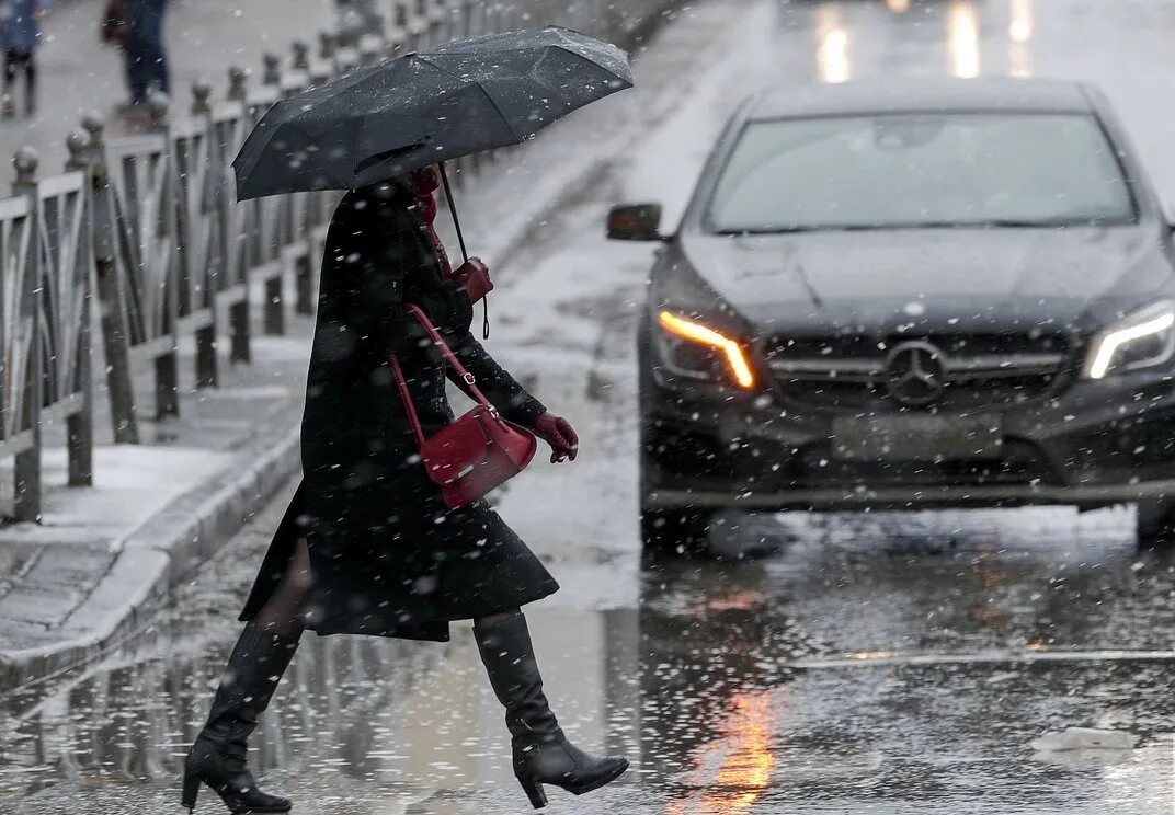
[[[1175,356],[1175,301],[1164,299],[1127,315],[1089,344],[1085,377],[1101,379],[1170,362]]]

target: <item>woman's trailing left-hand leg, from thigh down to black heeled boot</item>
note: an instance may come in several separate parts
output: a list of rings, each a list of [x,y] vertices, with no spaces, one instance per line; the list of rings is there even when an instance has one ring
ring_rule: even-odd
[[[194,809],[201,783],[233,811],[286,813],[290,801],[257,789],[246,766],[248,739],[297,649],[310,598],[310,555],[298,539],[273,597],[246,624],[224,667],[208,723],[188,753],[183,806]]]

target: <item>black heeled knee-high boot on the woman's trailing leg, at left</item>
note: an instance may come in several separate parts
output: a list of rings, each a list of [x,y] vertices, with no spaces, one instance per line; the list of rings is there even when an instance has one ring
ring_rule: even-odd
[[[184,762],[183,806],[189,810],[196,808],[201,783],[219,793],[233,813],[290,810],[289,799],[257,789],[246,756],[249,734],[269,706],[297,642],[297,635],[275,634],[253,622],[244,626],[224,667],[208,723]]]

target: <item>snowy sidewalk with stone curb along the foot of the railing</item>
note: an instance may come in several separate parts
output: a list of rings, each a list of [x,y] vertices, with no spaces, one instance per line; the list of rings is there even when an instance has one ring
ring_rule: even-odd
[[[560,202],[673,115],[719,59],[728,45],[724,33],[745,19],[745,8],[711,0],[683,12],[639,55],[637,90],[556,124],[499,159],[476,188],[457,193],[470,247],[495,268],[501,291],[490,349],[524,379],[533,378],[531,342],[517,329],[536,317],[537,302],[549,301],[552,310],[559,295],[511,258]],[[519,287],[525,297],[511,291]],[[0,574],[11,575],[0,578],[0,693],[74,667],[149,625],[169,590],[296,473],[311,328],[303,318],[288,338],[258,341],[251,365],[226,364],[224,384],[200,391],[199,402],[183,399],[181,419],[154,425],[146,444],[101,446],[95,486],[51,484],[41,526],[0,530]],[[182,362],[188,377],[190,356]],[[99,410],[105,399],[98,395]]]

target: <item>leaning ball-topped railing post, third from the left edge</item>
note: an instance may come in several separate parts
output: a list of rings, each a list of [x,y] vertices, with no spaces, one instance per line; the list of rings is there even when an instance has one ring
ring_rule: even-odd
[[[116,444],[139,444],[139,422],[135,417],[130,376],[129,330],[115,261],[118,222],[106,166],[105,124],[98,114],[89,113],[82,119],[81,126],[89,134],[94,276],[98,279],[98,314],[106,352],[106,386],[110,393],[110,424]]]

